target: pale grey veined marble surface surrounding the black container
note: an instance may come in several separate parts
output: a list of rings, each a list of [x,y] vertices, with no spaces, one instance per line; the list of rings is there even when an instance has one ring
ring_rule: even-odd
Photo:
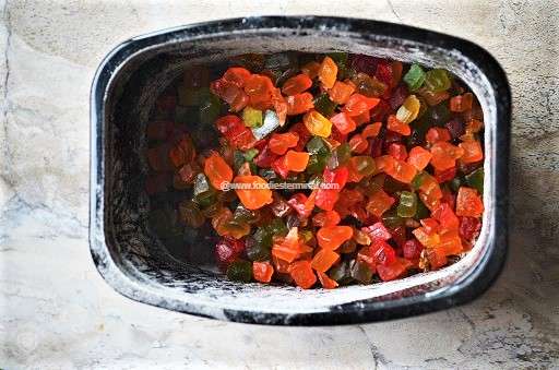
[[[559,1],[0,0],[0,368],[559,368]],[[135,303],[87,246],[88,93],[118,43],[257,14],[379,19],[469,38],[513,94],[510,256],[448,311],[266,327]]]

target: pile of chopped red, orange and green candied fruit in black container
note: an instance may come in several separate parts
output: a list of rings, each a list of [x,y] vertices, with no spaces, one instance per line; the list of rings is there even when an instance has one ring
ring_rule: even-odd
[[[443,69],[243,55],[190,68],[155,110],[152,205],[173,191],[174,222],[212,229],[229,279],[386,282],[455,262],[479,234],[483,111]]]

